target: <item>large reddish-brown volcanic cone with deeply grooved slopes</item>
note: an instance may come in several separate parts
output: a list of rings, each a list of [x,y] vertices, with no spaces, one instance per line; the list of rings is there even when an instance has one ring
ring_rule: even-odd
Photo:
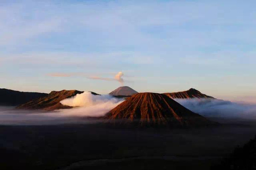
[[[104,118],[108,122],[135,123],[141,126],[188,127],[212,124],[207,118],[186,109],[167,95],[151,92],[132,95],[109,111]]]

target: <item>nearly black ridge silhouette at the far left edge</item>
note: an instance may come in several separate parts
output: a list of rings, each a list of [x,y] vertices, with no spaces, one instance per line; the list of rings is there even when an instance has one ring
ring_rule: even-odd
[[[20,92],[10,89],[0,89],[0,105],[17,106],[35,98],[47,96],[47,93]]]

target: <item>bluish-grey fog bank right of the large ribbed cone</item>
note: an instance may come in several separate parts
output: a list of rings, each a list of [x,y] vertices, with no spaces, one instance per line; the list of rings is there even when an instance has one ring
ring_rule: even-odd
[[[218,99],[175,99],[175,101],[205,117],[256,120],[256,104],[239,104]]]

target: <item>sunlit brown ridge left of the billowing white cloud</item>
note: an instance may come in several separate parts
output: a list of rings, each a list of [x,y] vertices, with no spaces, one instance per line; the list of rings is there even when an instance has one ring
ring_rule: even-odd
[[[56,109],[69,109],[70,106],[66,106],[60,103],[60,101],[71,98],[77,94],[83,92],[78,90],[61,90],[61,91],[52,91],[47,96],[43,98],[38,98],[36,100],[29,101],[28,103],[21,104],[17,109],[44,109],[47,111],[56,110]],[[98,95],[95,92],[91,92],[93,95]]]

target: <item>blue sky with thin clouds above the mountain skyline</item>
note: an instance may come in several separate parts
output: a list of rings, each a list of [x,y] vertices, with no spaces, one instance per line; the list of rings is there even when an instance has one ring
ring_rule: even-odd
[[[256,101],[256,1],[0,2],[1,88],[108,93],[191,87]],[[92,79],[97,77],[98,79]],[[102,80],[105,79],[105,80]]]

